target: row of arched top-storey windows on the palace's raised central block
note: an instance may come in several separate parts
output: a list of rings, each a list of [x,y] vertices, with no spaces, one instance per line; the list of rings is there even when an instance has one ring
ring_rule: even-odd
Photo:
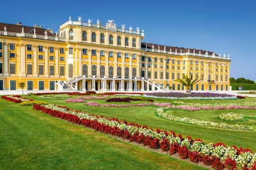
[[[60,35],[61,37],[63,37],[62,33]],[[92,42],[96,42],[96,33],[92,32]],[[74,31],[73,29],[69,30],[69,40],[74,40]],[[109,35],[109,44],[113,44],[113,35]],[[82,31],[82,41],[87,41],[87,32],[86,31]],[[100,35],[100,42],[101,43],[105,43],[105,35],[104,33],[101,33]],[[121,43],[121,36],[117,37],[117,45],[122,45]],[[125,37],[125,45],[129,46],[129,37]],[[136,39],[133,39],[133,47],[136,47]]]

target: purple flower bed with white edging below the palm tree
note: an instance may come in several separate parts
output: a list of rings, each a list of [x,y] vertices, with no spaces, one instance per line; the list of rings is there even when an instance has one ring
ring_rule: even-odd
[[[234,95],[214,94],[209,92],[185,94],[182,92],[154,92],[143,95],[144,97],[162,98],[162,99],[198,99],[198,100],[224,100],[237,99]]]

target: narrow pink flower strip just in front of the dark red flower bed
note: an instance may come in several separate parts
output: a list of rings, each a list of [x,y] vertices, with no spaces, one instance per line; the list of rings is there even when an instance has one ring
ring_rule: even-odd
[[[87,102],[84,105],[88,105],[91,107],[114,107],[114,108],[122,108],[122,107],[143,107],[146,105],[155,105],[156,107],[166,107],[170,106],[171,103],[141,103],[141,104],[98,104],[97,102]]]

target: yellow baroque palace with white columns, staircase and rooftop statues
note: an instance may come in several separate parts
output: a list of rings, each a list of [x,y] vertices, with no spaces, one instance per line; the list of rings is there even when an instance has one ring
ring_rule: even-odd
[[[228,90],[230,58],[201,49],[145,43],[143,30],[71,18],[59,33],[40,25],[0,23],[0,90]]]

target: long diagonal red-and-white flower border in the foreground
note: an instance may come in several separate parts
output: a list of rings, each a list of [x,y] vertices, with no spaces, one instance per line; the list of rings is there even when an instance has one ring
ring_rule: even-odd
[[[169,151],[170,155],[178,153],[182,159],[189,158],[192,162],[203,162],[214,169],[256,167],[256,154],[248,148],[226,147],[221,142],[205,145],[200,139],[192,141],[191,137],[183,138],[174,131],[168,133],[160,129],[152,130],[147,126],[119,121],[117,118],[93,116],[56,105],[34,105],[33,108],[102,133],[129,139],[130,142],[143,143],[144,146],[154,149],[161,148],[162,151]]]

